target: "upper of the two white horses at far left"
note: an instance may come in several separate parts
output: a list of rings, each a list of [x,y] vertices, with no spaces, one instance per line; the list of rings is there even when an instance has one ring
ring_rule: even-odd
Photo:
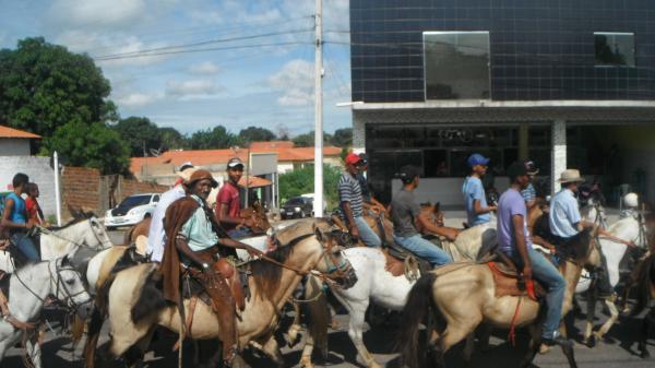
[[[81,246],[80,257],[85,251],[99,252],[112,246],[107,230],[95,217],[74,219],[62,227],[37,228],[41,260],[63,257],[71,249]],[[84,251],[83,251],[84,250]],[[15,260],[10,252],[0,252],[0,270],[11,273]]]

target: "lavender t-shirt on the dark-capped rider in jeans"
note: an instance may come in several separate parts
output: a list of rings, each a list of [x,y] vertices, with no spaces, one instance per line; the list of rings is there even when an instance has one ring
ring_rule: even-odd
[[[515,189],[508,189],[500,197],[498,202],[498,248],[509,256],[512,256],[516,249],[516,239],[514,239],[514,215],[523,216],[523,232],[525,234],[525,245],[532,247],[532,239],[527,230],[527,210],[525,200]]]

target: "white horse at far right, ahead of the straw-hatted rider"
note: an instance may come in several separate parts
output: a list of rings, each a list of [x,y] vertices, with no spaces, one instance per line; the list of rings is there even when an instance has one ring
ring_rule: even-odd
[[[629,240],[633,242],[638,242],[641,238],[641,224],[634,217],[626,217],[621,218],[611,225],[607,232],[619,239]],[[624,244],[611,241],[609,239],[599,238],[600,250],[605,256],[605,260],[607,262],[607,271],[609,273],[609,284],[614,289],[619,283],[619,263],[621,259],[626,256],[626,251],[628,250],[628,246]],[[641,246],[641,245],[638,245]],[[592,280],[588,276],[583,274],[583,277],[580,278],[577,286],[575,287],[575,293],[584,293],[590,289],[592,286]],[[595,316],[595,307],[596,307],[596,297],[595,295],[591,295],[587,298],[587,322],[584,332],[584,343],[587,346],[594,346],[596,340],[602,339],[611,328],[611,325],[619,318],[619,311],[615,305],[614,298],[606,298],[605,305],[609,309],[610,317],[609,319],[600,327],[600,329],[594,332],[594,316]]]

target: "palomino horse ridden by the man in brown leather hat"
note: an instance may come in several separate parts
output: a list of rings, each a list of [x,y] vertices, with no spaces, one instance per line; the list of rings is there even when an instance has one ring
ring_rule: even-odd
[[[272,334],[278,323],[279,310],[302,276],[312,270],[325,278],[343,281],[344,287],[354,283],[354,280],[343,277],[344,274],[348,274],[345,270],[349,264],[342,256],[341,246],[334,244],[329,233],[324,233],[327,228],[330,225],[323,221],[298,222],[279,234],[281,241],[284,241],[283,238],[291,238],[288,246],[278,247],[269,253],[269,257],[283,266],[267,260],[250,263],[252,276],[249,277],[248,284],[252,296],[247,300],[237,325],[241,348],[252,341],[269,352],[277,352],[277,343],[272,339]],[[111,283],[108,294],[111,335],[109,352],[114,356],[122,356],[131,347],[147,346],[150,335],[157,324],[181,332],[182,320],[176,306],[164,304],[160,294],[151,298],[140,298],[155,268],[155,264],[146,263],[127,269],[119,272]],[[138,305],[138,300],[153,305]],[[189,302],[184,300],[186,314],[189,313]],[[136,317],[139,310],[147,313],[134,320],[132,316]],[[218,324],[210,306],[199,302],[193,320],[195,323],[190,331],[184,332],[186,336],[196,340],[217,339]],[[275,356],[274,360],[281,364],[282,357]]]

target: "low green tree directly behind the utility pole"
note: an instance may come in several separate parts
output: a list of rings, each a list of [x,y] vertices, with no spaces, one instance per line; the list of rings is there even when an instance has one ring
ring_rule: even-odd
[[[323,165],[323,192],[327,209],[338,204],[337,185],[341,170],[334,166]],[[313,193],[313,165],[306,165],[279,175],[279,198],[286,201],[301,194]]]

